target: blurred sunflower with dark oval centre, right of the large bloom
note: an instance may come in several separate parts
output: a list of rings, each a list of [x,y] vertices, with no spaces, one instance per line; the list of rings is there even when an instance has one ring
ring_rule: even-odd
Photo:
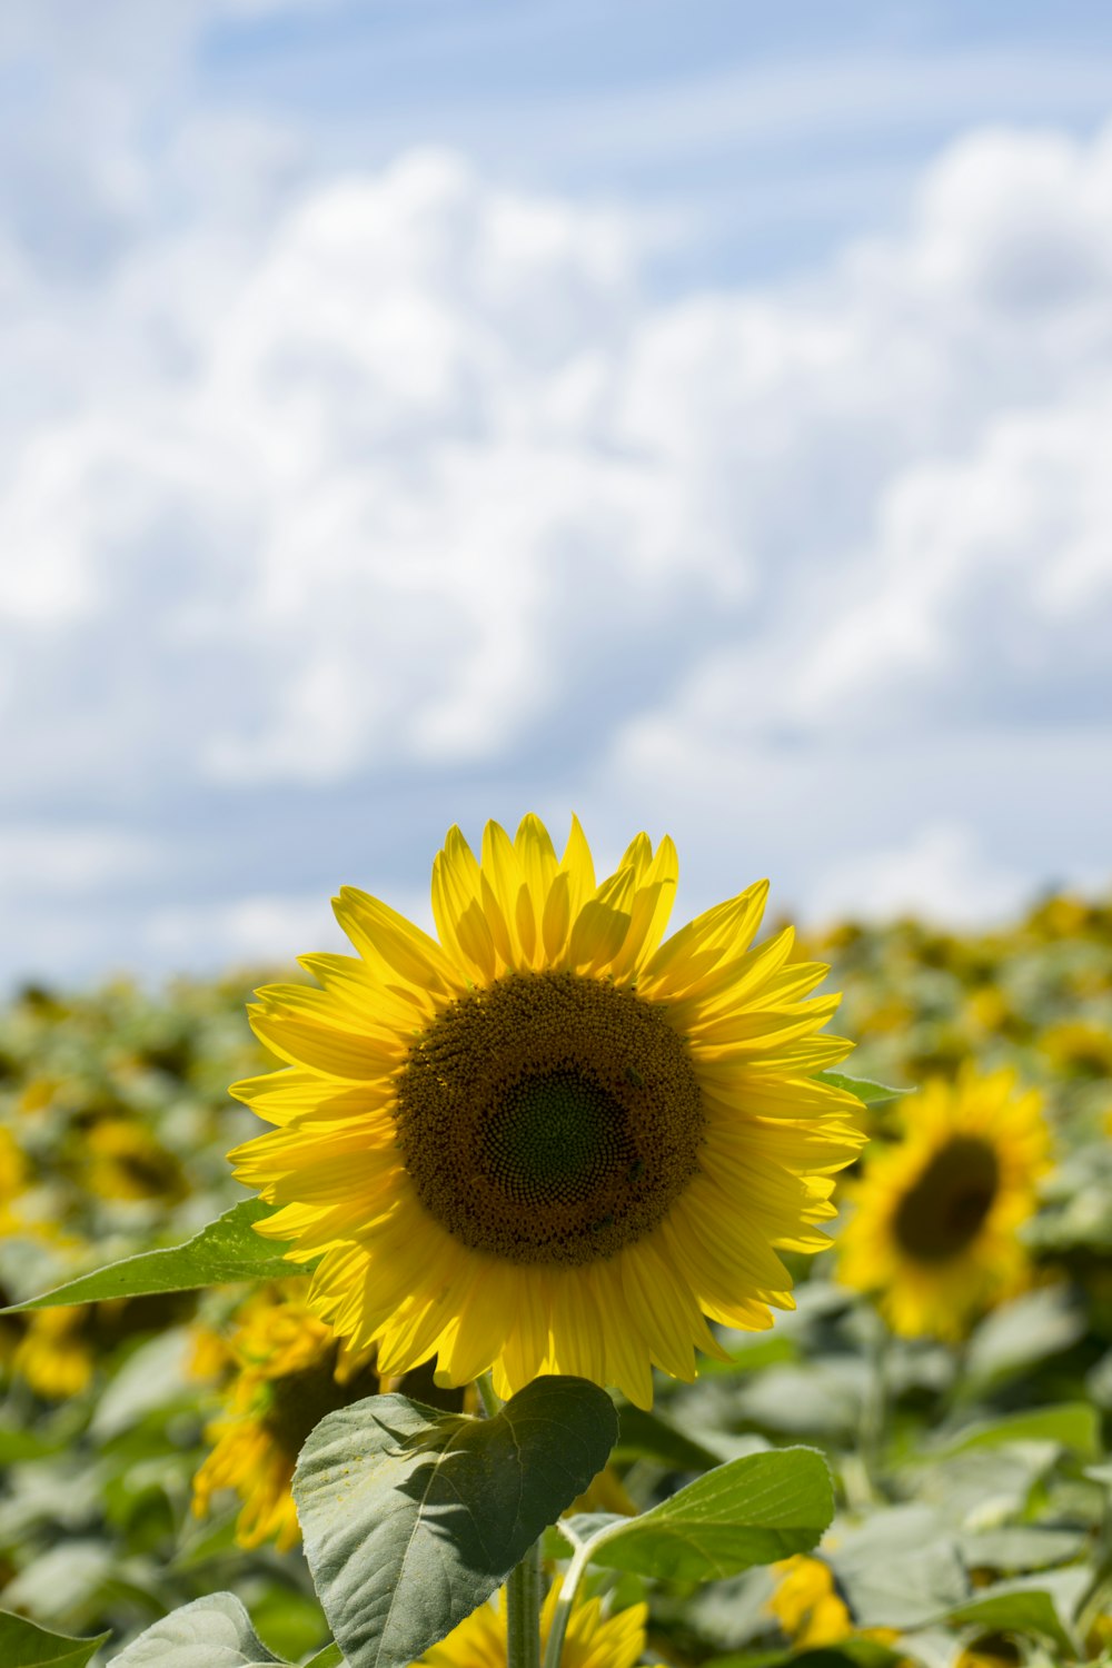
[[[1017,1229],[1047,1168],[1042,1098],[1012,1071],[965,1068],[905,1103],[905,1121],[854,1189],[839,1273],[880,1294],[894,1331],[955,1341],[1029,1281]]]

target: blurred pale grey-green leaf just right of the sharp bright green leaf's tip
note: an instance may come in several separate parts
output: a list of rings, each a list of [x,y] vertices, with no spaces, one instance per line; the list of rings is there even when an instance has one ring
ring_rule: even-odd
[[[827,1563],[862,1628],[920,1628],[969,1598],[957,1545],[929,1506],[892,1506],[834,1540]]]

